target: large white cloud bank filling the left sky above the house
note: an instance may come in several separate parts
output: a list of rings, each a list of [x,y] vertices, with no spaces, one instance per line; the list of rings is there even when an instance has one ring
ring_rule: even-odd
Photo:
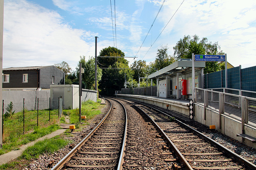
[[[66,61],[74,69],[80,56],[94,54],[95,33],[73,29],[62,17],[36,4],[5,1],[3,68],[52,65]]]

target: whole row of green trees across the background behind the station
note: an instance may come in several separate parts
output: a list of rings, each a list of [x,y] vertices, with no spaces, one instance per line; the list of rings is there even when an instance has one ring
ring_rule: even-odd
[[[185,35],[173,47],[174,55],[168,55],[168,45],[161,45],[157,49],[155,61],[146,64],[145,60],[134,61],[129,66],[129,62],[124,58],[125,54],[115,47],[106,47],[100,50],[97,57],[97,89],[99,94],[103,96],[112,96],[116,90],[124,88],[125,81],[127,88],[150,86],[146,78],[152,74],[180,59],[191,59],[192,53],[202,55],[224,55],[220,50],[218,42],[212,43],[207,38],[203,37],[201,40],[198,35]],[[104,57],[112,56],[112,57]],[[89,90],[95,89],[95,58],[90,57],[86,61],[85,56],[80,56],[80,61],[76,70],[72,70],[68,63],[55,64],[57,68],[65,72],[65,84],[78,84],[79,65],[82,64],[84,74],[82,76],[82,88]],[[218,62],[206,62],[204,74],[216,72],[225,69],[224,64]],[[156,80],[153,80],[153,86],[156,85]]]

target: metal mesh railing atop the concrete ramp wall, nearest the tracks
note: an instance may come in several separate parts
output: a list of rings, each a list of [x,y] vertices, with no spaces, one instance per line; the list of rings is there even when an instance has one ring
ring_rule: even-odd
[[[256,98],[196,88],[195,102],[256,127]]]

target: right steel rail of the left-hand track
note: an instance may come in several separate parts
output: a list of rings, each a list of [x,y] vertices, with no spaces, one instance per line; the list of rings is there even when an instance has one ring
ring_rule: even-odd
[[[114,99],[112,99],[112,100],[114,100]],[[121,153],[120,153],[120,157],[119,157],[119,161],[118,161],[118,166],[117,166],[117,170],[122,170],[123,169],[122,164],[124,163],[124,150],[125,150],[125,146],[126,146],[126,137],[127,137],[127,112],[126,112],[124,105],[121,102],[119,102],[117,100],[115,100],[115,101],[122,105],[122,107],[124,108],[124,112],[125,112],[124,139],[123,139],[123,145],[122,145],[122,149],[121,149]]]

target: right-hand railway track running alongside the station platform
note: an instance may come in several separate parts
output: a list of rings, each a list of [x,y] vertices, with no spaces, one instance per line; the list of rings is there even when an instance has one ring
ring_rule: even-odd
[[[124,101],[139,107],[152,119],[155,126],[159,127],[159,131],[162,132],[168,144],[172,146],[172,150],[174,150],[185,169],[256,169],[256,166],[251,162],[188,125],[178,120],[170,121],[170,115],[138,102]]]

